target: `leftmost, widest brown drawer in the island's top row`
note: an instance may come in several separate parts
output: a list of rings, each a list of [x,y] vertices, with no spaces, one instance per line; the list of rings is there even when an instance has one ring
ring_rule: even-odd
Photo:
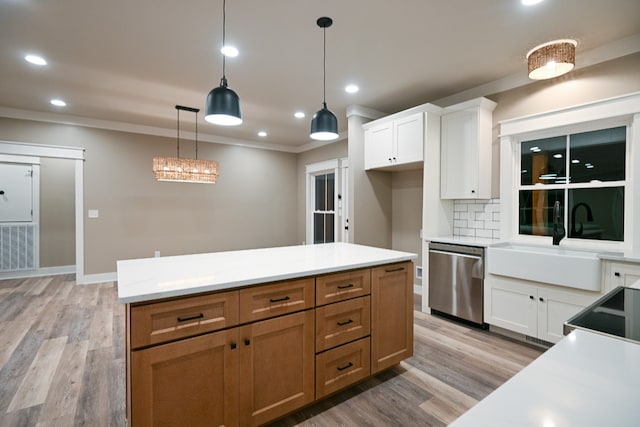
[[[238,291],[131,306],[131,348],[160,344],[238,324]]]

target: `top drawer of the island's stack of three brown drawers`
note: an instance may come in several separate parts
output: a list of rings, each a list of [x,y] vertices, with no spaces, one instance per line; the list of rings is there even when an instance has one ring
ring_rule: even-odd
[[[370,293],[371,270],[368,268],[316,278],[316,305],[344,301]]]

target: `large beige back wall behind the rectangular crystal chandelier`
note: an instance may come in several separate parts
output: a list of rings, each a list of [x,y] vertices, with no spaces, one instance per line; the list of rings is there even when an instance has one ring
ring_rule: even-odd
[[[215,185],[156,182],[151,161],[175,155],[175,139],[0,119],[0,139],[84,147],[85,274],[116,271],[116,260],[297,242],[296,155],[200,143],[218,160]],[[193,142],[182,141],[182,155]],[[87,219],[88,209],[100,217]]]

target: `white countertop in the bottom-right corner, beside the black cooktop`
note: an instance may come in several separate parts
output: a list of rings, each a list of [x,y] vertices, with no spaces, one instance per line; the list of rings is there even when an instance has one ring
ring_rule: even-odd
[[[450,427],[640,425],[640,344],[574,330]]]

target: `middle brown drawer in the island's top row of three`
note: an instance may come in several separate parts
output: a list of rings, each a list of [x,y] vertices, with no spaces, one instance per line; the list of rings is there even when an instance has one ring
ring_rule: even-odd
[[[240,322],[280,316],[313,308],[313,277],[270,283],[240,290]]]

